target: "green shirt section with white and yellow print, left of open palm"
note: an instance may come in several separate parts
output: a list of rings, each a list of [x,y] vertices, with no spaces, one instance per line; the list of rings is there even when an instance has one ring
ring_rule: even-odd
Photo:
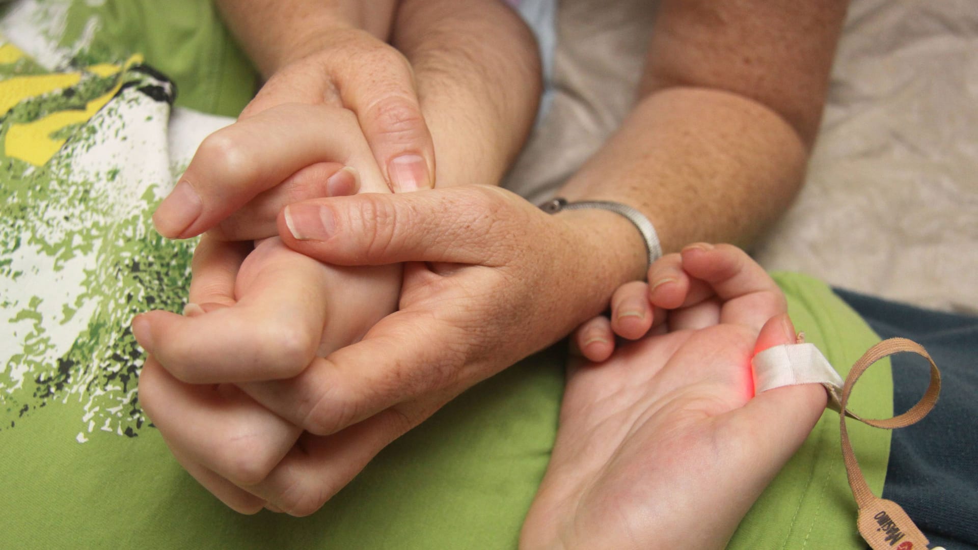
[[[312,518],[241,516],[193,481],[140,407],[128,328],[187,296],[194,242],[150,223],[183,167],[169,83],[128,63],[44,74],[0,48],[0,548],[515,545],[555,436],[556,350],[467,391]]]

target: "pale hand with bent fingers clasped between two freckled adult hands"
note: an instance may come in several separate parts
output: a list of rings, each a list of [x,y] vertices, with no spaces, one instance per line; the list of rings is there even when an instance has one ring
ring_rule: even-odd
[[[276,381],[296,377],[317,355],[359,341],[395,310],[401,266],[337,267],[292,252],[278,237],[253,250],[221,239],[228,231],[275,233],[281,207],[309,189],[331,196],[358,188],[389,192],[349,112],[274,107],[204,144],[185,178],[208,182],[215,196],[228,200],[216,201],[219,209],[204,208],[196,223],[242,206],[235,194],[243,188],[269,190],[226,217],[223,232],[201,239],[187,316],[153,311],[134,320],[133,332],[150,354],[140,399],[188,472],[232,508],[254,512],[265,504],[254,496],[260,492],[254,485],[302,433],[274,412],[282,399]],[[301,169],[312,162],[316,169]],[[327,168],[333,176],[320,177],[325,172],[317,170]]]

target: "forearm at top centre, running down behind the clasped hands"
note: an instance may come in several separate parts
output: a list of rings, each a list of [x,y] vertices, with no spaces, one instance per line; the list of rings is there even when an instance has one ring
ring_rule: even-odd
[[[411,62],[435,146],[435,185],[498,185],[536,116],[540,60],[503,2],[404,0],[393,44]]]

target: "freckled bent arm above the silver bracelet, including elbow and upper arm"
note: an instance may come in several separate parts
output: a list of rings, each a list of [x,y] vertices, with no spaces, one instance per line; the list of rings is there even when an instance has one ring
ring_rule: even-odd
[[[562,194],[639,208],[664,252],[749,246],[801,185],[845,5],[665,0],[641,99]]]

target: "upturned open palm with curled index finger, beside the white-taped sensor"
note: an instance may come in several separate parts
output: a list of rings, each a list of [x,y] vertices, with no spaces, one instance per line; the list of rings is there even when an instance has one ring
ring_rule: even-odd
[[[670,298],[675,332],[570,368],[520,548],[723,548],[821,416],[820,385],[754,395],[754,354],[795,341],[761,267],[730,246],[690,247],[679,266],[692,280]]]

